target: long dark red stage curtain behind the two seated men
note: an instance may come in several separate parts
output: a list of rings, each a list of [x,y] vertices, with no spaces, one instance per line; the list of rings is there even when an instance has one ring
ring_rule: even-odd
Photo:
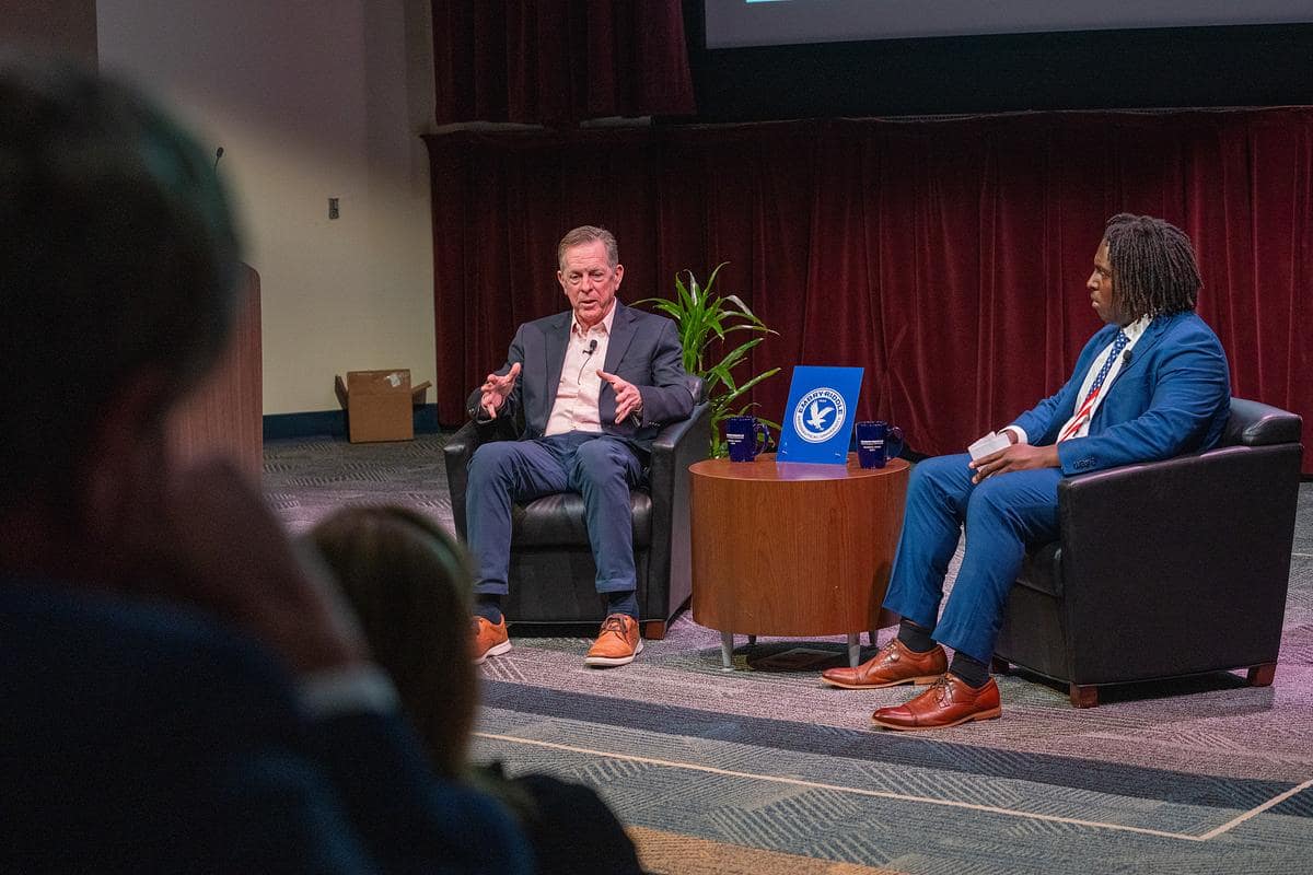
[[[730,262],[721,290],[780,332],[752,361],[784,367],[763,415],[793,365],[860,365],[859,416],[960,451],[1070,375],[1099,327],[1085,281],[1104,220],[1130,211],[1190,234],[1234,394],[1302,413],[1313,447],[1313,108],[428,143],[444,422],[520,321],[566,306],[555,244],[593,223],[620,240],[626,302]]]

